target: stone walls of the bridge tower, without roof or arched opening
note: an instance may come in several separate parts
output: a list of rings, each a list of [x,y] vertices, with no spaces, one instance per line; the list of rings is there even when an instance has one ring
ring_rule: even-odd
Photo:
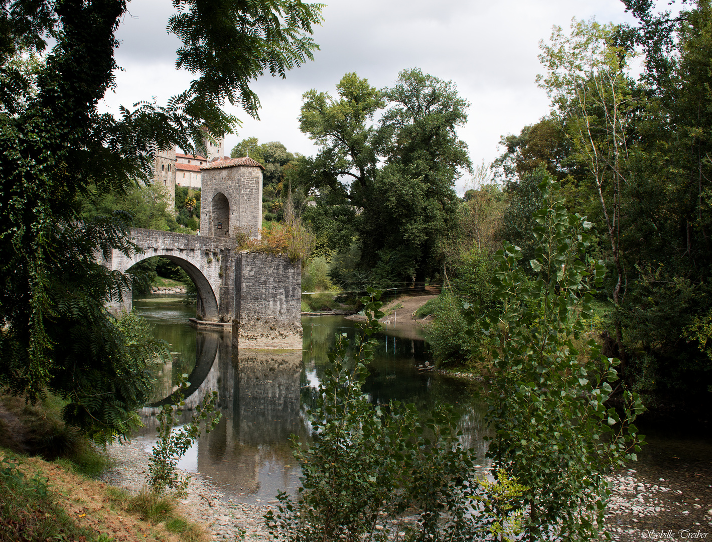
[[[235,239],[238,231],[259,237],[262,227],[262,170],[251,166],[218,167],[201,169],[200,231],[216,236],[215,219],[211,216],[211,204],[215,194],[222,193],[229,202],[229,239]]]

